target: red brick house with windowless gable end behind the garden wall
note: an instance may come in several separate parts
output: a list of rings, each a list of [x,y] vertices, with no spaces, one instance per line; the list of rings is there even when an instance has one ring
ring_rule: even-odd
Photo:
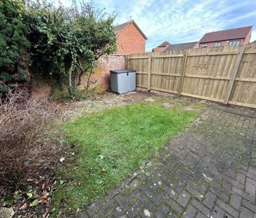
[[[145,53],[147,37],[134,20],[115,27],[118,54]]]

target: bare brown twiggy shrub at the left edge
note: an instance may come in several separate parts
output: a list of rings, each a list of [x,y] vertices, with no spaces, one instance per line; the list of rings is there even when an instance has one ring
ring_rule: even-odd
[[[0,184],[17,188],[28,173],[44,167],[45,132],[55,125],[49,102],[25,91],[8,93],[0,102]]]

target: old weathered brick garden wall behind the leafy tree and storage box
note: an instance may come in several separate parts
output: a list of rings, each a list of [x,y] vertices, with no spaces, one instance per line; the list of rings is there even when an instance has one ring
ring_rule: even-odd
[[[91,80],[94,81],[95,91],[102,92],[110,88],[109,71],[113,69],[125,69],[128,65],[127,55],[104,55],[97,61]],[[82,85],[79,89],[83,90],[87,83],[87,77],[83,76]],[[42,79],[41,76],[33,75],[31,78],[31,95],[36,97],[48,97],[52,91],[50,81]]]

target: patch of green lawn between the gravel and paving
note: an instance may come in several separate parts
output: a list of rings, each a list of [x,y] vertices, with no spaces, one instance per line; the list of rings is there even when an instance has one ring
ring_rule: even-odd
[[[57,187],[55,212],[84,210],[183,130],[198,114],[156,102],[138,102],[77,118],[64,125],[75,160],[59,170],[68,180]]]

